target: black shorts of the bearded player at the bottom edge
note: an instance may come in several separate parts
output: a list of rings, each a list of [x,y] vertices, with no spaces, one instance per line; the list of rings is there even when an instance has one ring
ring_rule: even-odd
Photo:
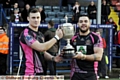
[[[77,73],[75,72],[71,80],[97,80],[95,73]]]

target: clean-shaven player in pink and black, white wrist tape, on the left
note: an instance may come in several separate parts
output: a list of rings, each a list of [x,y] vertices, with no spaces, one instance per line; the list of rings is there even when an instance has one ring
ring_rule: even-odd
[[[55,36],[47,42],[44,42],[43,34],[38,31],[41,16],[38,9],[30,10],[28,17],[29,26],[25,28],[19,38],[22,49],[22,65],[20,69],[21,75],[45,75],[46,65],[45,59],[60,62],[62,58],[52,56],[48,52],[59,39],[63,37],[61,29],[57,29]],[[19,73],[19,72],[18,72]]]

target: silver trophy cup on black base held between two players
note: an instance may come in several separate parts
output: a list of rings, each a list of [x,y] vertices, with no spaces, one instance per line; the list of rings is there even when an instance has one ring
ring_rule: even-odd
[[[61,28],[63,31],[63,39],[67,40],[67,45],[63,47],[63,58],[70,59],[75,56],[75,49],[70,45],[70,39],[75,34],[75,28],[71,23],[64,23]]]

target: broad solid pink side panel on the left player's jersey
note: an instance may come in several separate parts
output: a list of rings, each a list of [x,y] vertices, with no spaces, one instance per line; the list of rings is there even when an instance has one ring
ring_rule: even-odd
[[[26,63],[25,63],[25,75],[34,75],[34,62],[33,62],[33,52],[32,49],[20,42],[22,49],[25,53]]]

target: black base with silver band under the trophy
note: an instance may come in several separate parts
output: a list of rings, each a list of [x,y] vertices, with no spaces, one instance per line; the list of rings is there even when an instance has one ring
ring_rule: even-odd
[[[63,54],[63,58],[65,59],[72,59],[75,56],[75,52],[74,49],[63,49],[64,54]]]

